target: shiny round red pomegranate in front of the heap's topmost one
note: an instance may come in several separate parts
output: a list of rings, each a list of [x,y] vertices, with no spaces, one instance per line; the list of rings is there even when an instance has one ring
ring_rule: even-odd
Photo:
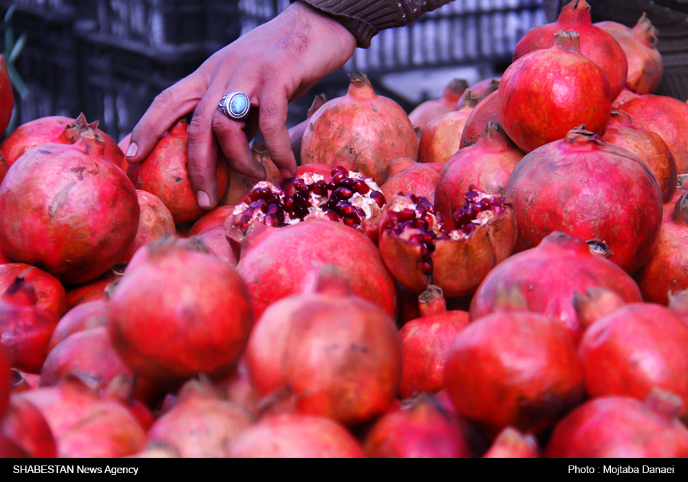
[[[526,152],[563,139],[581,124],[602,135],[616,97],[601,69],[581,55],[577,32],[554,36],[552,47],[514,61],[499,85],[499,122]]]

